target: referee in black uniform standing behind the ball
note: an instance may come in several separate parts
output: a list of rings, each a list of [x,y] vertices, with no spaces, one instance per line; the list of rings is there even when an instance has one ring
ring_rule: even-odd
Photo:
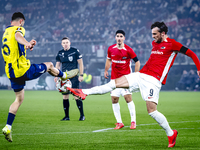
[[[72,82],[72,88],[79,88],[79,82],[83,81],[83,60],[82,55],[79,50],[73,47],[70,47],[71,42],[68,37],[64,37],[62,39],[61,45],[63,47],[56,56],[56,68],[60,69],[62,64],[62,71],[77,69],[79,65],[79,76],[75,76],[70,79]],[[56,82],[58,80],[57,77],[54,78]],[[74,97],[76,100],[77,107],[80,111],[80,121],[85,120],[85,116],[83,113],[83,102],[81,99]],[[61,119],[61,121],[70,120],[69,118],[69,93],[63,93],[63,108],[65,112],[65,117]]]

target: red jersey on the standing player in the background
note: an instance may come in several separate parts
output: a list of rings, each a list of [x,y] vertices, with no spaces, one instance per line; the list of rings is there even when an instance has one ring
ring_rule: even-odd
[[[111,79],[119,78],[132,72],[131,59],[137,57],[132,48],[124,44],[122,49],[113,44],[108,48],[107,58],[111,59]]]

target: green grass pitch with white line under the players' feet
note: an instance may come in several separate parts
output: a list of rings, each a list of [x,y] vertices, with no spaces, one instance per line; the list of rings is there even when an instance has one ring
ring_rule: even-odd
[[[148,115],[140,93],[133,93],[137,128],[130,130],[130,114],[120,98],[125,125],[113,130],[116,120],[109,94],[88,96],[83,101],[85,121],[78,121],[76,102],[70,97],[70,121],[64,117],[62,95],[57,91],[25,91],[12,127],[13,142],[0,134],[0,150],[22,149],[98,149],[98,150],[157,150],[168,149],[164,130]],[[0,129],[7,120],[13,91],[0,90]],[[178,130],[173,149],[200,149],[200,92],[161,92],[158,111],[163,113],[172,129]]]

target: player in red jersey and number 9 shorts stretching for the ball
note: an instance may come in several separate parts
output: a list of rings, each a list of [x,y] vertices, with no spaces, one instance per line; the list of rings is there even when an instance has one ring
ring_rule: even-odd
[[[200,61],[192,50],[167,36],[168,27],[164,22],[153,23],[151,31],[154,38],[151,55],[139,72],[124,75],[91,89],[67,89],[82,99],[87,95],[104,94],[115,88],[129,88],[131,92],[140,90],[142,98],[146,101],[148,114],[165,130],[169,141],[168,147],[174,147],[178,132],[172,130],[166,117],[157,111],[159,92],[162,84],[166,83],[168,72],[179,52],[192,58],[199,77]]]

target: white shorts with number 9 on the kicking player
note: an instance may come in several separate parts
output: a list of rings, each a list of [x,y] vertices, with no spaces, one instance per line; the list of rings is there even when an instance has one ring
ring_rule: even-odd
[[[125,75],[125,77],[128,80],[130,92],[140,91],[143,100],[158,104],[159,92],[162,86],[159,80],[140,72],[134,72]]]

